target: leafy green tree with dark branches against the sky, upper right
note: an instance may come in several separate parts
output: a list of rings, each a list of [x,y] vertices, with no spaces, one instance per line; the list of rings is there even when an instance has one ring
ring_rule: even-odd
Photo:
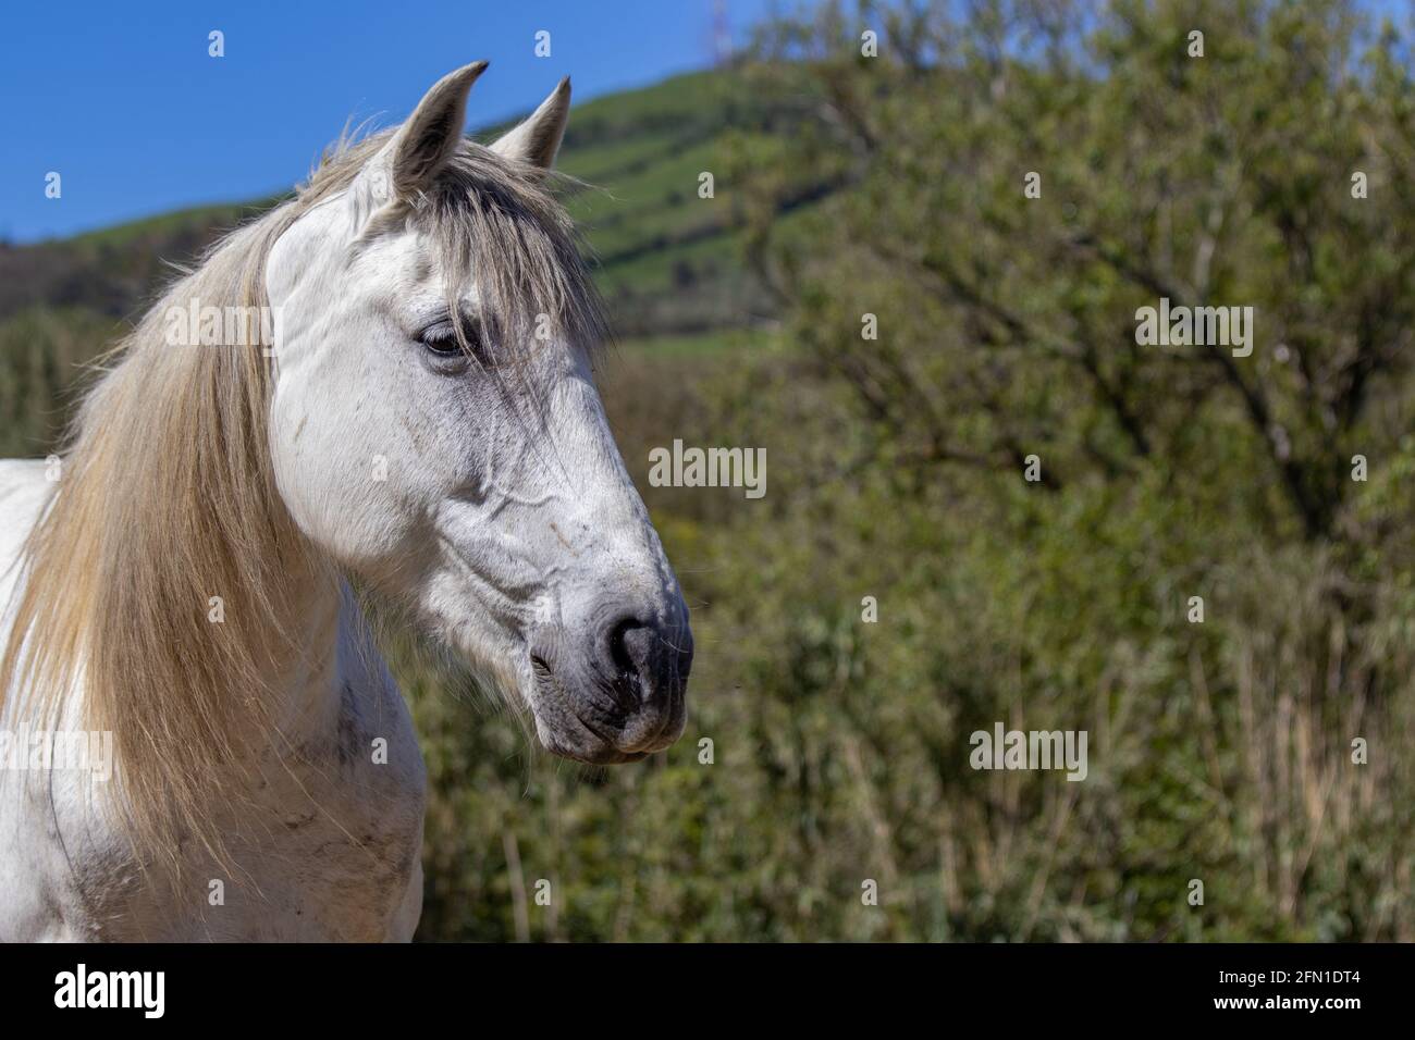
[[[1340,536],[1415,337],[1408,42],[1341,0],[951,7],[832,6],[764,44],[760,75],[818,81],[807,161],[850,175],[812,235],[757,239],[801,338],[904,458],[1194,471],[1207,423],[1264,460],[1265,524]],[[1251,355],[1138,344],[1162,299],[1251,307]]]

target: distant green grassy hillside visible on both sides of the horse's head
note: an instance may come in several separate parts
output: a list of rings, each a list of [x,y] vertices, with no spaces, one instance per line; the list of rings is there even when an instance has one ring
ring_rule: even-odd
[[[724,184],[734,140],[790,122],[739,76],[699,72],[576,109],[560,168],[587,187],[569,198],[597,258],[614,325],[628,342],[712,347],[773,304],[743,262],[740,207]],[[485,136],[494,132],[488,130]],[[710,171],[716,198],[698,197]],[[802,177],[797,195],[818,187]],[[120,334],[171,265],[277,200],[161,214],[30,246],[0,245],[0,454],[41,454],[62,424],[64,391]],[[633,348],[633,347],[631,347]]]

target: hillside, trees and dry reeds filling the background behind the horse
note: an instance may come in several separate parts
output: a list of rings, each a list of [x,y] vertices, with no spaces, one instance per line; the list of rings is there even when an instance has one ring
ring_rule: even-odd
[[[826,4],[577,109],[692,717],[582,770],[395,641],[420,935],[1415,940],[1412,147],[1408,31],[1336,0]],[[0,450],[241,214],[0,249]],[[1252,357],[1138,347],[1162,296],[1254,307]],[[767,497],[649,488],[675,437]],[[975,773],[995,722],[1090,777]]]

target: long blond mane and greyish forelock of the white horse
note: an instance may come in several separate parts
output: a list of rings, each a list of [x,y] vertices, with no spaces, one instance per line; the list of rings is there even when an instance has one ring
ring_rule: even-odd
[[[267,351],[259,338],[171,345],[164,316],[192,300],[266,307],[275,242],[355,187],[391,133],[341,139],[291,198],[218,241],[100,358],[58,491],[21,552],[0,709],[13,691],[11,717],[52,724],[67,696],[81,698],[82,724],[113,733],[115,784],[143,863],[180,869],[192,839],[224,859],[211,809],[239,797],[258,743],[287,750],[266,695],[269,676],[304,652],[294,593],[335,577],[276,490]],[[549,314],[593,345],[599,297],[552,184],[463,141],[406,219],[440,250],[449,301],[474,276],[512,335]],[[211,597],[221,624],[208,620]]]

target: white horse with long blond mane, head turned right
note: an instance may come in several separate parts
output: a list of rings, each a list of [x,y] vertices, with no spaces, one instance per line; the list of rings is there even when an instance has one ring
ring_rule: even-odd
[[[483,147],[484,68],[178,280],[62,463],[0,463],[0,940],[412,935],[423,763],[350,582],[556,754],[682,733],[688,610],[548,187],[569,81]],[[74,733],[112,736],[110,781],[33,750]]]

